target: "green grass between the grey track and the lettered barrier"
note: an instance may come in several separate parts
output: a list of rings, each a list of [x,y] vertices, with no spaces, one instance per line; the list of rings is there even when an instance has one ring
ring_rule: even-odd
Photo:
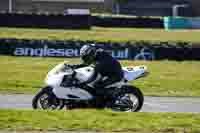
[[[46,73],[65,58],[0,56],[0,92],[35,93]],[[79,59],[66,59],[79,63]],[[199,61],[121,61],[123,66],[146,65],[149,76],[131,82],[145,95],[200,96]]]

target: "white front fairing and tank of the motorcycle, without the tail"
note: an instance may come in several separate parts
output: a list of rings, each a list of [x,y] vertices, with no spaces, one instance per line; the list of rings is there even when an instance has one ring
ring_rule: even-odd
[[[54,69],[55,70],[55,69]],[[89,79],[93,74],[91,67],[84,67],[76,69],[76,78],[80,82],[84,82]],[[45,79],[45,83],[53,88],[54,94],[61,99],[78,99],[78,100],[89,100],[92,99],[92,95],[78,87],[62,87],[62,81],[64,76],[71,75],[71,72],[59,72],[50,73]]]

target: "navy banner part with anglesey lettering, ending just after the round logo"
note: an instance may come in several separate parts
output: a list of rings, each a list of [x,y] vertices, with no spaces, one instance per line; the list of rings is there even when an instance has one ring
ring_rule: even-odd
[[[1,39],[0,54],[35,57],[79,57],[80,48],[89,44],[81,41],[45,41]],[[154,59],[153,51],[133,48],[131,45],[96,43],[117,59]]]

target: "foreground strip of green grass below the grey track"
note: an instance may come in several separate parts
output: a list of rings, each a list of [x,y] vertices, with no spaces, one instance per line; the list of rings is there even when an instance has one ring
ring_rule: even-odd
[[[0,110],[0,130],[11,131],[199,133],[199,121],[200,115],[192,113]]]

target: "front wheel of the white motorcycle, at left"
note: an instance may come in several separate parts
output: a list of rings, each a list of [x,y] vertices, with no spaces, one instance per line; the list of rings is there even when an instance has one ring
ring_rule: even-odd
[[[42,88],[32,100],[33,109],[43,110],[60,110],[64,107],[64,102],[56,98],[52,92],[52,88],[47,86]]]

